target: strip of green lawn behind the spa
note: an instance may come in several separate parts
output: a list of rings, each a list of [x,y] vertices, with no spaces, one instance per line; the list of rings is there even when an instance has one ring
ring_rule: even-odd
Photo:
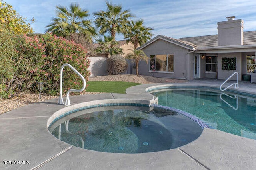
[[[107,82],[107,81],[90,81],[87,82],[86,92],[105,92],[105,93],[124,93],[128,87],[139,85],[132,82]]]

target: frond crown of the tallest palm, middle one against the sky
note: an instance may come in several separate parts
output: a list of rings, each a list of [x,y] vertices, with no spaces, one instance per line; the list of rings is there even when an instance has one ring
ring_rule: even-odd
[[[107,10],[94,12],[95,25],[100,28],[100,34],[110,33],[116,40],[116,33],[126,33],[128,30],[129,18],[134,17],[130,10],[122,11],[121,5],[112,4],[106,1]]]

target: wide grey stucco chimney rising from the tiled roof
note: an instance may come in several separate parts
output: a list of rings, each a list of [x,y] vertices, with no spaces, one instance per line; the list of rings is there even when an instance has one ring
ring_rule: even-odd
[[[218,22],[218,46],[243,45],[244,21],[234,20],[235,16],[226,18],[228,21]]]

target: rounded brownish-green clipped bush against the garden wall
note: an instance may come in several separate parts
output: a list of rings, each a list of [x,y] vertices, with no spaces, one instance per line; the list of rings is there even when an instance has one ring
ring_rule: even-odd
[[[125,72],[128,68],[128,63],[124,57],[120,55],[112,55],[107,59],[108,75],[116,75]]]

